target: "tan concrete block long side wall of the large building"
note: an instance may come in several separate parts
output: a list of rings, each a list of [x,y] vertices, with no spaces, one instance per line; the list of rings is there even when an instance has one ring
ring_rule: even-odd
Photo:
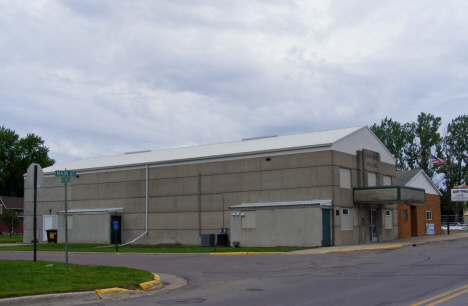
[[[199,243],[201,233],[230,227],[229,206],[248,202],[330,199],[335,181],[331,151],[272,155],[171,166],[150,166],[148,234],[137,243]],[[78,173],[68,184],[68,209],[123,207],[123,240],[145,231],[146,169]],[[199,177],[201,174],[201,177]],[[199,179],[201,178],[201,181]],[[64,210],[64,185],[48,176],[38,192],[42,215]],[[200,186],[200,187],[199,187]],[[199,188],[201,212],[199,215]],[[222,195],[224,194],[224,207]],[[32,190],[25,188],[25,236],[32,240]]]

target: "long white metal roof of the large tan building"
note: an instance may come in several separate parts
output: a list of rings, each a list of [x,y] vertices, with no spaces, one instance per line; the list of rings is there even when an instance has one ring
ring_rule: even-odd
[[[86,158],[53,165],[45,168],[44,173],[51,174],[56,170],[64,169],[94,171],[146,164],[157,165],[177,162],[195,162],[216,158],[235,158],[246,155],[252,156],[255,154],[268,154],[301,149],[312,150],[315,148],[317,150],[326,150],[331,149],[334,143],[338,146],[340,140],[363,130],[370,132],[369,128],[366,126],[360,126],[287,136],[254,138],[210,145]],[[370,133],[372,134],[372,132]],[[376,137],[374,136],[374,138]]]

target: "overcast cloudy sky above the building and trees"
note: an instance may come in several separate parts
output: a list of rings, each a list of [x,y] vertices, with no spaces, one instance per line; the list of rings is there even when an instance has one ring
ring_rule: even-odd
[[[0,126],[57,162],[466,114],[465,1],[0,2]]]

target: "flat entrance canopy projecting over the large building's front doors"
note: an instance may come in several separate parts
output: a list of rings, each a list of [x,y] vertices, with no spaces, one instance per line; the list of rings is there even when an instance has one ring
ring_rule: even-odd
[[[406,186],[374,186],[353,188],[355,203],[425,203],[426,191]]]

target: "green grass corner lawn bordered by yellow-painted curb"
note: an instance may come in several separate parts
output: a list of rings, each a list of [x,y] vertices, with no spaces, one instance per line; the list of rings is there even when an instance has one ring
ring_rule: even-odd
[[[0,298],[88,291],[112,287],[136,288],[153,280],[148,271],[130,268],[81,266],[46,261],[2,260]]]

